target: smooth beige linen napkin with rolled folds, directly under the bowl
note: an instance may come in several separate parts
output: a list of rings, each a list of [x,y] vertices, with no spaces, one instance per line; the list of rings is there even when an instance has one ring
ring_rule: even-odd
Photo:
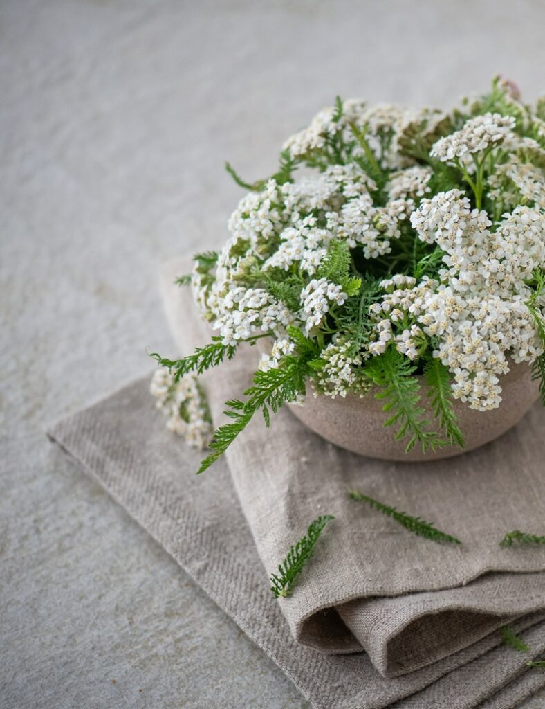
[[[162,278],[168,320],[184,353],[211,334],[196,322],[189,291],[174,284],[187,268],[177,259]],[[216,422],[224,401],[248,386],[257,360],[248,348],[207,374]],[[294,637],[323,652],[365,649],[381,674],[398,676],[467,647],[510,618],[545,610],[545,549],[498,544],[505,532],[537,531],[545,520],[544,414],[536,408],[481,450],[424,464],[340,450],[286,408],[269,431],[254,420],[226,457],[265,569],[275,571],[311,519],[336,518],[311,571],[292,598],[280,601]],[[415,537],[350,500],[348,488],[435,520],[464,544]]]

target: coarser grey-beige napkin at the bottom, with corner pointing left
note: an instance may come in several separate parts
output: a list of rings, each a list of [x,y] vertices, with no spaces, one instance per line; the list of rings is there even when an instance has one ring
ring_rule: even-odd
[[[394,679],[381,676],[364,652],[328,655],[299,644],[268,589],[229,469],[219,461],[213,475],[193,475],[200,454],[166,430],[149,395],[149,376],[58,423],[50,437],[176,559],[316,709],[512,709],[545,685],[544,671],[525,666],[545,652],[543,613],[512,623],[531,653],[515,652],[493,632]]]

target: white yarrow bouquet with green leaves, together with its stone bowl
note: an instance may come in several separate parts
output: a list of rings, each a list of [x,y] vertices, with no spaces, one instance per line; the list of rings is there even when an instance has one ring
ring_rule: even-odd
[[[216,334],[156,355],[176,386],[260,342],[201,471],[284,403],[392,459],[468,450],[545,403],[545,99],[501,79],[446,113],[338,98],[270,179],[227,169],[248,191],[231,237],[180,279]]]

